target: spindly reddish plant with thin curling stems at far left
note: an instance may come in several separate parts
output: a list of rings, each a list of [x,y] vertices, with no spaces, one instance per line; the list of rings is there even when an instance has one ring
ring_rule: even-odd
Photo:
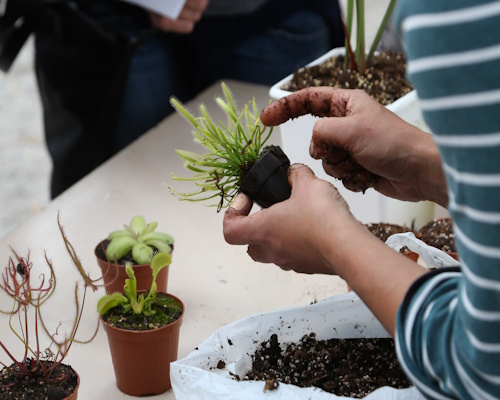
[[[75,342],[89,343],[99,329],[97,324],[94,334],[87,340],[80,340],[76,337],[83,315],[87,290],[90,288],[96,291],[97,286],[94,283],[96,280],[92,280],[84,272],[80,259],[64,233],[59,217],[57,222],[66,251],[78,272],[73,296],[75,312],[70,328],[62,332],[63,329],[58,326],[55,331],[51,331],[42,312],[44,306],[53,308],[58,303],[61,304],[61,300],[58,303],[48,303],[56,291],[57,280],[52,261],[46,253],[47,271],[38,273],[36,276],[39,281],[35,283],[32,274],[33,263],[30,262],[29,252],[26,257],[22,257],[11,248],[13,257],[10,257],[0,283],[0,289],[12,300],[12,309],[0,310],[0,313],[9,316],[9,328],[24,347],[23,356],[18,358],[0,340],[0,347],[12,361],[10,366],[2,362],[0,365],[4,370],[19,376],[21,380],[32,380],[40,382],[40,384],[62,380],[63,377],[53,377],[52,374],[66,358],[72,344]],[[79,290],[81,286],[83,286],[83,292]],[[43,344],[44,341],[48,341],[47,347]],[[0,387],[10,387],[14,384],[3,385],[0,383]]]

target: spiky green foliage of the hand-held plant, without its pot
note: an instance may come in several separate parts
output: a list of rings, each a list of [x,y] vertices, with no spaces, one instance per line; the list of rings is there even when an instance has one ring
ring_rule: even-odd
[[[181,200],[205,201],[219,197],[214,204],[218,211],[239,192],[241,180],[258,160],[272,133],[272,128],[266,128],[260,121],[255,98],[239,111],[227,85],[221,86],[224,99],[218,97],[215,102],[228,117],[226,124],[220,120],[216,124],[204,105],[200,106],[201,115],[195,117],[176,98],[170,99],[175,110],[194,127],[195,142],[208,152],[176,150],[184,160],[184,167],[195,174],[192,177],[172,174],[172,179],[193,181],[199,190],[181,193],[169,188]]]

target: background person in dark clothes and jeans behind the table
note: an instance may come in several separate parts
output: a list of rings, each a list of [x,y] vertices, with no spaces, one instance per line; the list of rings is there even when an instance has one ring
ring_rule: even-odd
[[[170,20],[121,0],[46,7],[35,70],[52,197],[219,79],[272,85],[343,45],[337,0],[186,0]]]

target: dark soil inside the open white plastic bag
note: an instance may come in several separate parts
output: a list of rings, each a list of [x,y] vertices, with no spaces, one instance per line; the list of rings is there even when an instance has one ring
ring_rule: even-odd
[[[411,386],[398,363],[393,339],[317,340],[314,333],[284,349],[273,334],[252,355],[252,369],[243,379],[266,381],[267,390],[282,382],[352,398],[382,386]]]

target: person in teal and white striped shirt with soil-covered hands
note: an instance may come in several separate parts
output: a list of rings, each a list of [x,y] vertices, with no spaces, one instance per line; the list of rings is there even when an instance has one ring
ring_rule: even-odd
[[[282,203],[250,214],[251,202],[238,195],[224,235],[248,245],[256,261],[344,278],[394,336],[426,398],[499,399],[500,1],[400,0],[394,21],[432,134],[364,92],[331,88],[293,93],[261,120],[324,117],[311,156],[351,190],[366,189],[369,173],[380,193],[447,207],[460,265],[428,272],[385,246],[303,165],[290,168],[292,194]],[[356,174],[353,160],[362,167]]]

